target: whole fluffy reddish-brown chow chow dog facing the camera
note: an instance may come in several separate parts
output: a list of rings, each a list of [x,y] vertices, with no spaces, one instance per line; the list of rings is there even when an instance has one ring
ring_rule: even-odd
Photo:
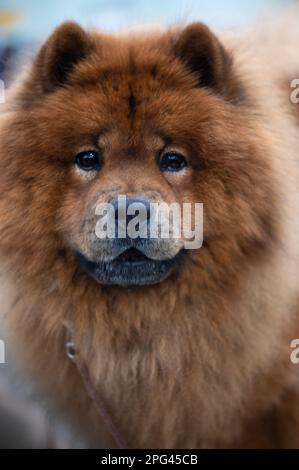
[[[299,57],[282,29],[113,36],[67,22],[11,88],[6,320],[90,447],[299,446]],[[97,237],[96,207],[117,217],[119,195],[146,224],[153,202],[203,204],[201,248]]]

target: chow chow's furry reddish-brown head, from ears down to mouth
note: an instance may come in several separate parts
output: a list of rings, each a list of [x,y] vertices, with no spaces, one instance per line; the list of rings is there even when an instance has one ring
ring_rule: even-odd
[[[202,24],[118,38],[63,24],[8,107],[2,246],[32,270],[67,253],[104,284],[158,283],[194,265],[203,279],[224,275],[271,232],[269,150],[251,107]],[[198,204],[201,250],[186,244],[201,230]]]

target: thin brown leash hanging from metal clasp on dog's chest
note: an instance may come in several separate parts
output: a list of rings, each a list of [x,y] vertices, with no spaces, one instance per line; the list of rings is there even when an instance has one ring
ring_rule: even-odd
[[[66,355],[77,367],[77,370],[79,372],[79,375],[85,387],[86,393],[89,396],[89,398],[93,401],[99,416],[104,421],[109,433],[113,436],[117,447],[122,450],[129,449],[126,439],[124,438],[122,433],[119,431],[118,427],[116,426],[115,421],[110,411],[108,410],[108,407],[105,401],[101,397],[98,389],[95,387],[92,381],[92,378],[90,376],[87,365],[78,354],[73,340],[68,340],[66,342]]]

